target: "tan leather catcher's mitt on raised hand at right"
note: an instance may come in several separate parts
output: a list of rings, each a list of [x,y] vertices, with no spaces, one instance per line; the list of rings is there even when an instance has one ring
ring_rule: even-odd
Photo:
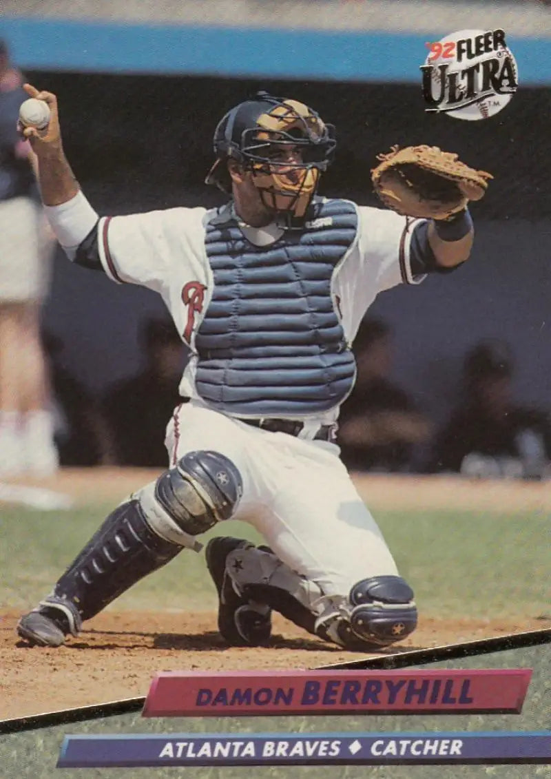
[[[479,200],[493,178],[438,146],[392,146],[377,159],[380,164],[371,171],[376,194],[386,206],[407,217],[446,219],[464,209],[469,200]]]

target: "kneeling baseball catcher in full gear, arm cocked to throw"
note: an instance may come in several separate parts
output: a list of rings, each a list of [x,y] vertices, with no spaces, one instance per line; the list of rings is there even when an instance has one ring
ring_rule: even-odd
[[[261,92],[214,132],[207,182],[227,193],[224,206],[98,217],[65,159],[55,96],[26,89],[51,109],[48,128],[24,135],[69,259],[161,294],[192,357],[167,470],[104,520],[19,635],[62,644],[232,517],[266,545],[224,535],[207,545],[228,643],[267,643],[272,610],[350,649],[408,636],[414,594],[341,463],[337,418],[367,308],[380,291],[468,259],[467,204],[488,174],[415,147],[374,171],[391,210],[321,197],[334,128],[299,100]]]

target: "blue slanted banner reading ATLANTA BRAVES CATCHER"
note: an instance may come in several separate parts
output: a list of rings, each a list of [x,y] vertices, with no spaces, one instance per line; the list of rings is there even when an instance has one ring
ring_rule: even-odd
[[[551,731],[67,735],[58,768],[551,764]]]

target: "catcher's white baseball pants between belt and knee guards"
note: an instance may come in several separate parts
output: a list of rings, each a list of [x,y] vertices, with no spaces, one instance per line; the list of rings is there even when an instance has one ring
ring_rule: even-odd
[[[346,597],[362,579],[397,575],[333,447],[259,430],[192,403],[175,413],[166,443],[171,464],[196,449],[229,457],[243,480],[234,518],[253,525],[285,565],[324,594]]]

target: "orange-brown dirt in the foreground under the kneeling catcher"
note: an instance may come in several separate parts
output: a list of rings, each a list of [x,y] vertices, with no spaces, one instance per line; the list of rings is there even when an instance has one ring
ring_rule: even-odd
[[[0,615],[0,720],[145,696],[158,671],[277,670],[316,668],[358,660],[274,619],[270,647],[226,647],[205,612],[104,612],[64,647],[28,647],[15,633],[19,615]],[[425,620],[410,640],[384,654],[543,629],[551,621],[524,624]]]

